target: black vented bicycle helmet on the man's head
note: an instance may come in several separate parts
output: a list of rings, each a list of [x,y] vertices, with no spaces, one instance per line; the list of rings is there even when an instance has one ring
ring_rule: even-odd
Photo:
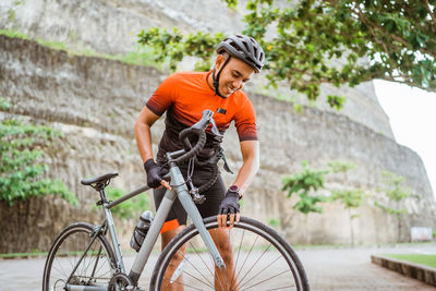
[[[265,52],[253,37],[246,35],[227,37],[217,48],[218,53],[223,51],[250,64],[257,73],[264,66]]]

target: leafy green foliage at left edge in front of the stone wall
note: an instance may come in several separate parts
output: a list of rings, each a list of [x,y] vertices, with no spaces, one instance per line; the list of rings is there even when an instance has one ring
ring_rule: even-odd
[[[0,98],[1,110],[10,107]],[[59,136],[59,132],[47,126],[0,121],[0,201],[12,205],[17,199],[51,194],[77,204],[75,195],[61,181],[44,178],[48,171],[48,166],[41,162],[44,149]]]

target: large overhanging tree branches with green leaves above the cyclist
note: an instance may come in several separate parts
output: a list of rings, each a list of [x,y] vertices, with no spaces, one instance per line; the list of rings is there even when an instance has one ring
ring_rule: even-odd
[[[235,7],[237,0],[225,0]],[[353,87],[383,78],[436,92],[435,1],[315,1],[275,4],[249,0],[243,34],[266,50],[269,84],[287,81],[315,100],[322,83]],[[274,32],[271,34],[267,32]],[[156,59],[171,69],[184,57],[199,57],[197,69],[208,70],[222,34],[198,32],[183,36],[175,28],[150,28],[138,43],[155,48]],[[343,97],[328,96],[341,108]]]

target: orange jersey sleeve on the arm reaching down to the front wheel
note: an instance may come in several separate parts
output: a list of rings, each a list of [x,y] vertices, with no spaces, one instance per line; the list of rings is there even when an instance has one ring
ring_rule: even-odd
[[[239,135],[239,141],[257,141],[256,114],[250,99],[238,110],[234,116],[234,126]]]

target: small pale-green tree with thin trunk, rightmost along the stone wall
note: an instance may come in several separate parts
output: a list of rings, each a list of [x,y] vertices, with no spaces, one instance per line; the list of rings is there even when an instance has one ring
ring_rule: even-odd
[[[382,173],[386,186],[382,190],[388,199],[393,204],[393,207],[374,202],[374,205],[386,211],[389,215],[397,217],[397,241],[401,241],[402,216],[408,214],[408,210],[402,208],[402,201],[411,195],[410,189],[404,187],[404,177],[395,174],[389,171]]]

